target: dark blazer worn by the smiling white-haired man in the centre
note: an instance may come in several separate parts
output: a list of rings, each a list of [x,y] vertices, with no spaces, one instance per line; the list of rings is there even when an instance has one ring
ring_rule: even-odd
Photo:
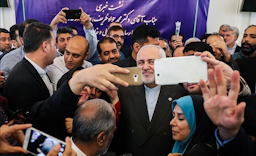
[[[121,103],[117,128],[118,154],[168,155],[174,145],[170,126],[172,100],[187,95],[187,91],[178,85],[162,86],[151,122],[144,85],[120,87],[118,95]]]

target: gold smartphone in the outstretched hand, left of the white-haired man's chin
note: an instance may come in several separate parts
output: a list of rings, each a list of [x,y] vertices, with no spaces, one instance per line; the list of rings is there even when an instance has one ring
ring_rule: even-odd
[[[129,74],[113,73],[116,77],[129,83],[130,86],[139,86],[142,84],[142,72],[139,67],[128,67]]]

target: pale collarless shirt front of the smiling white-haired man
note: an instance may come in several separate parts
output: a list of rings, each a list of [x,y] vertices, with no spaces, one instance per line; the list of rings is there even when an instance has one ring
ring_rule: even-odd
[[[145,86],[145,95],[146,95],[146,102],[147,102],[147,109],[148,109],[148,117],[149,117],[149,121],[151,121],[156,108],[156,103],[158,100],[161,86],[158,85],[154,88],[148,88],[146,85],[144,86]]]

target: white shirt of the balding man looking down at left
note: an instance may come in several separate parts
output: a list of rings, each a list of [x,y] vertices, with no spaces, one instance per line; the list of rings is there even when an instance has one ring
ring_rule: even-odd
[[[92,64],[88,61],[83,62],[82,67],[88,68],[91,67]],[[51,82],[53,83],[54,91],[57,90],[57,83],[60,78],[68,72],[69,69],[66,67],[64,56],[57,57],[53,60],[53,64],[49,65],[46,72],[50,77]]]

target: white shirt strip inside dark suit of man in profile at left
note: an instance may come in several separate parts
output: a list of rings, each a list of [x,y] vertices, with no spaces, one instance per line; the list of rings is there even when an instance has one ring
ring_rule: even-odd
[[[42,80],[44,81],[46,87],[48,88],[50,96],[52,96],[53,86],[49,80],[49,77],[46,75],[46,71],[44,69],[42,69],[40,66],[38,66],[35,62],[30,60],[27,56],[25,56],[25,59],[28,60],[32,64],[32,66],[36,69],[36,71],[41,76]]]

